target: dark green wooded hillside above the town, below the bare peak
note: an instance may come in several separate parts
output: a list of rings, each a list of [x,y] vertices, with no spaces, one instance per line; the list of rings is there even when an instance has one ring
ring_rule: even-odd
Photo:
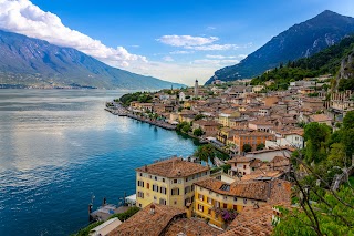
[[[331,80],[333,90],[354,90],[354,35],[345,37],[309,58],[290,61],[281,66],[269,70],[252,79],[251,84],[266,85],[268,90],[284,90],[291,81],[316,78],[324,74],[335,75]],[[323,89],[329,89],[326,85]]]

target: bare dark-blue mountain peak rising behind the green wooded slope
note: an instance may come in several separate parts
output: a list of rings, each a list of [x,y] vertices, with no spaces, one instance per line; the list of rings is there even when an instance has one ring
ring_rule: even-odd
[[[272,38],[239,64],[216,71],[207,84],[215,79],[233,81],[254,78],[280,63],[310,57],[352,33],[354,33],[354,18],[326,10]]]

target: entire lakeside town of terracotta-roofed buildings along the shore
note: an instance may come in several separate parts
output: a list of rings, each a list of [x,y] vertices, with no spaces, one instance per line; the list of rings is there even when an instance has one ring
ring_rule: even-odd
[[[108,102],[113,114],[208,144],[188,158],[171,156],[135,170],[136,195],[128,205],[140,211],[125,222],[110,219],[91,235],[271,235],[284,208],[311,208],[310,193],[299,184],[311,175],[305,170],[311,165],[294,157],[311,138],[304,127],[314,123],[335,132],[353,114],[351,91],[329,96],[323,89],[331,78],[291,82],[283,91],[268,91],[272,81],[250,85],[250,80],[215,80],[199,86],[196,80],[194,88],[138,92]],[[202,151],[206,145],[214,151]],[[216,152],[227,157],[212,156]],[[351,167],[333,177],[331,191],[353,174],[354,158],[346,163]],[[296,187],[300,202],[294,203]]]

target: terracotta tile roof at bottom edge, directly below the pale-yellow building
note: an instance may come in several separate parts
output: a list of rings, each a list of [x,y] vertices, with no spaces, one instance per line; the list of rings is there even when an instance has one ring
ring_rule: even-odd
[[[150,206],[155,206],[155,213],[150,214]],[[176,217],[181,217],[184,211],[159,204],[149,204],[144,209],[122,223],[108,236],[158,236]]]

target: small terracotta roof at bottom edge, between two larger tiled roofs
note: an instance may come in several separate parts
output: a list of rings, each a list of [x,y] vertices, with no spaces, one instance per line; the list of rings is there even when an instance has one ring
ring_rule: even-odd
[[[176,236],[179,233],[184,233],[187,236],[199,236],[199,235],[219,235],[222,230],[217,229],[208,225],[204,219],[200,218],[180,218],[174,220],[164,236]]]

